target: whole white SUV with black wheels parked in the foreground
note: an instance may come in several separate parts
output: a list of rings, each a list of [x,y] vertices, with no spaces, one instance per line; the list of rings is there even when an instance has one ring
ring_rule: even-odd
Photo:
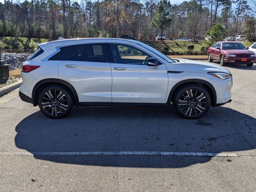
[[[87,38],[38,44],[22,68],[20,98],[62,118],[73,106],[170,106],[198,118],[230,102],[232,76],[220,66],[172,60],[135,40]]]

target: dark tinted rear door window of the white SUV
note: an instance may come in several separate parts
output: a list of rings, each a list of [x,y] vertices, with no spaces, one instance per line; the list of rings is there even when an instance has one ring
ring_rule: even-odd
[[[73,45],[66,60],[87,62],[109,62],[106,43]]]

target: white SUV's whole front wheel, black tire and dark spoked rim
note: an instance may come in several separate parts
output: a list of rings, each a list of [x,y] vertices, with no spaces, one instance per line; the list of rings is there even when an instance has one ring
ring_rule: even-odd
[[[188,96],[192,98],[188,98]],[[172,102],[174,109],[180,116],[196,119],[208,112],[211,98],[209,92],[204,87],[197,84],[188,84],[178,88]]]

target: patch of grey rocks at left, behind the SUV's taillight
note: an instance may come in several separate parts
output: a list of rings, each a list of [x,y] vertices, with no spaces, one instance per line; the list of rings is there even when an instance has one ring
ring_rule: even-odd
[[[22,67],[22,63],[28,59],[30,53],[6,53],[2,52],[2,60],[9,64],[9,70],[14,70]]]

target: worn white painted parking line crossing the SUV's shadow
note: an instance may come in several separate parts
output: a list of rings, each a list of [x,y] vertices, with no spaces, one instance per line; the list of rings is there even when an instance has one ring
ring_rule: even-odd
[[[82,155],[165,155],[165,156],[222,156],[237,157],[235,153],[110,151],[110,152],[0,152],[0,156],[82,156]]]

